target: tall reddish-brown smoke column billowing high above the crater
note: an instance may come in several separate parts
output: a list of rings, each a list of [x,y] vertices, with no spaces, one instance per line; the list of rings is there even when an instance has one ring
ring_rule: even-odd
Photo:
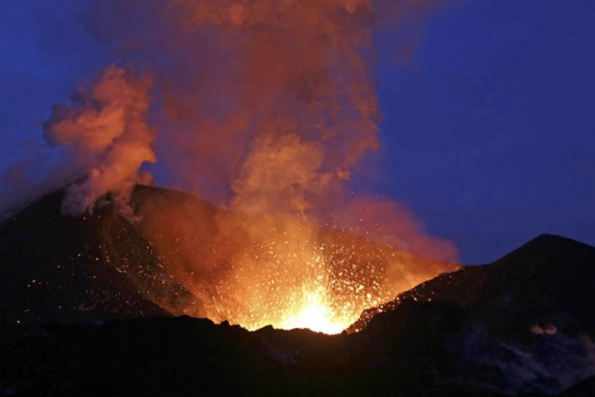
[[[170,180],[242,211],[303,214],[378,148],[375,29],[435,4],[108,0],[81,19],[155,71]]]

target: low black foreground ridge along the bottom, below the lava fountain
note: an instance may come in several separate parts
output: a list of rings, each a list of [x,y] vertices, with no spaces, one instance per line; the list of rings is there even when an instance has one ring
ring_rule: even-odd
[[[3,348],[4,395],[553,395],[593,374],[585,337],[500,339],[452,301],[405,301],[351,335],[161,317],[49,323]]]

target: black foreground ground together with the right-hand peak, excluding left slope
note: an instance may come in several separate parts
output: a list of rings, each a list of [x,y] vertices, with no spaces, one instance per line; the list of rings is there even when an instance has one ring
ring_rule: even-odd
[[[588,274],[594,251],[540,236],[402,293],[341,335],[188,316],[52,323],[4,342],[1,386],[7,395],[592,395],[593,330],[572,305],[593,292],[563,288]]]

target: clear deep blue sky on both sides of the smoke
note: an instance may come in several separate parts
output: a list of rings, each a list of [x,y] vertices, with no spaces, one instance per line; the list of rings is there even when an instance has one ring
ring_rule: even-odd
[[[60,6],[58,6],[60,4]],[[0,13],[0,167],[106,48],[82,2],[12,1]],[[45,7],[45,8],[44,8]],[[405,201],[462,261],[540,233],[595,244],[595,2],[477,0],[434,15],[406,67],[381,49],[378,192]]]

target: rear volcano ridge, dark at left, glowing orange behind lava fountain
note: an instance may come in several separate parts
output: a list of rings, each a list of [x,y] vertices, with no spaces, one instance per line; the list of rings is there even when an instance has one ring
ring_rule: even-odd
[[[302,260],[296,251],[303,255],[311,246],[326,250],[316,259],[322,257],[330,272],[341,275],[334,298],[343,311],[355,315],[339,324],[336,332],[340,332],[364,308],[458,268],[347,232],[234,214],[176,190],[136,186],[131,200],[135,220],[121,216],[113,205],[83,217],[64,216],[60,212],[63,196],[64,190],[43,196],[0,227],[4,291],[0,320],[8,333],[35,332],[50,320],[69,323],[182,314],[228,320],[251,329],[276,325],[271,321],[274,317],[264,315],[278,310],[274,305],[287,305],[282,301],[291,298],[287,287],[300,282],[289,279],[295,277],[290,262]],[[264,225],[266,234],[252,233],[248,228],[253,225]],[[299,243],[293,242],[298,238]],[[269,243],[275,240],[284,251],[274,251],[271,264]],[[258,261],[241,268],[238,275],[234,264],[246,256]],[[275,275],[275,290],[246,290],[268,280],[270,274]],[[270,295],[261,301],[247,300],[265,293]],[[262,301],[270,306],[262,306]],[[346,308],[343,302],[351,306]],[[261,306],[262,311],[250,311]],[[312,321],[318,321],[318,314],[314,312]],[[308,326],[299,320],[290,325]]]

